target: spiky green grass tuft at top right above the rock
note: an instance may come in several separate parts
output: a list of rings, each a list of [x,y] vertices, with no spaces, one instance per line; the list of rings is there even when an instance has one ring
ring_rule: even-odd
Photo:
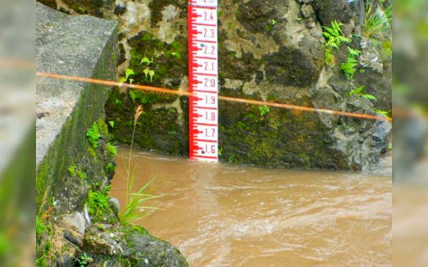
[[[385,10],[382,10],[378,3],[367,1],[365,9],[366,17],[363,26],[365,37],[371,38],[391,27],[392,3]]]

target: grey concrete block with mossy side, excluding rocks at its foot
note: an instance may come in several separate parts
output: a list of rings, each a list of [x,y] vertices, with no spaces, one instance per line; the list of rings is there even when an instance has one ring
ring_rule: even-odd
[[[117,60],[117,24],[89,17],[65,16],[37,6],[37,70],[65,75],[114,79]],[[97,30],[94,31],[93,28]],[[76,36],[79,36],[79,39]],[[81,196],[72,189],[84,181],[68,181],[68,167],[76,166],[88,177],[107,176],[109,141],[104,123],[108,88],[50,78],[37,78],[37,208],[56,203],[58,209],[81,208]],[[96,124],[99,146],[89,144],[86,133]],[[95,178],[94,178],[95,179]],[[66,188],[70,189],[66,192]],[[79,190],[77,190],[79,191]]]

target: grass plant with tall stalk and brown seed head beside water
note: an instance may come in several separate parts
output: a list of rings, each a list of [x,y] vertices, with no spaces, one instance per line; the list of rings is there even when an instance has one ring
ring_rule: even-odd
[[[134,183],[136,179],[136,174],[135,172],[132,172],[132,174],[130,173],[131,160],[132,160],[132,147],[134,143],[136,125],[142,113],[143,113],[142,106],[138,105],[138,107],[135,109],[135,114],[134,114],[131,147],[129,150],[128,166],[126,168],[127,187],[126,187],[125,212],[123,214],[119,214],[120,222],[122,224],[129,224],[131,221],[141,219],[146,215],[145,209],[152,209],[152,210],[159,209],[156,207],[143,206],[143,203],[146,202],[147,200],[161,197],[160,195],[151,195],[149,194],[149,192],[146,192],[147,188],[153,182],[154,179],[150,180],[144,186],[142,186],[139,190],[134,192],[135,191]]]

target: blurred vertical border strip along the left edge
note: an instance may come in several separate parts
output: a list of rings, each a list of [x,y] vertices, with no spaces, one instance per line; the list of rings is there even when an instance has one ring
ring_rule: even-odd
[[[35,2],[0,1],[0,265],[34,266]]]

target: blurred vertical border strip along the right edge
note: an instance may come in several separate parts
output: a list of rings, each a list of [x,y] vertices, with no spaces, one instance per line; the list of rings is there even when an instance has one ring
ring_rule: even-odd
[[[428,266],[428,2],[393,9],[393,265]]]

